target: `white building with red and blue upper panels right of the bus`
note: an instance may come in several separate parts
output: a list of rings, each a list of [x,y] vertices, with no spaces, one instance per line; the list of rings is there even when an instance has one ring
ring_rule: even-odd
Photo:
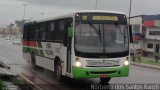
[[[160,15],[139,15],[131,17],[133,33],[139,33],[141,39],[131,48],[142,49],[154,54],[160,52]]]

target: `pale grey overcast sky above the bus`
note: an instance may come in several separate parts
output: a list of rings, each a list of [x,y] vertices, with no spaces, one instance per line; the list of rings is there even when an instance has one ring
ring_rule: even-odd
[[[98,10],[112,10],[129,13],[130,0],[98,0]],[[23,19],[40,19],[56,16],[73,10],[93,10],[96,0],[0,0],[0,27]],[[42,16],[41,12],[44,13]],[[132,0],[131,16],[141,14],[160,14],[160,0]]]

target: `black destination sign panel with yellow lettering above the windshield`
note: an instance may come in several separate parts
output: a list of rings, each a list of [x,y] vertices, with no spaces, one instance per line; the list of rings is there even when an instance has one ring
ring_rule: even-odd
[[[78,13],[76,14],[76,22],[125,22],[127,23],[126,16],[123,14],[111,13]]]

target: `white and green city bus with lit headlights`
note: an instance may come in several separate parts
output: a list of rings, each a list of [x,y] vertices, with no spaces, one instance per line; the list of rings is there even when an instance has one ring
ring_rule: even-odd
[[[23,57],[58,81],[129,75],[131,33],[124,13],[76,11],[24,24]]]

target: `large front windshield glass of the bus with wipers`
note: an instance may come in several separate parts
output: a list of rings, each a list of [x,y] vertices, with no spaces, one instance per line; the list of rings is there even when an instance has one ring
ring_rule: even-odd
[[[78,24],[75,49],[83,53],[119,53],[128,50],[126,25]]]

